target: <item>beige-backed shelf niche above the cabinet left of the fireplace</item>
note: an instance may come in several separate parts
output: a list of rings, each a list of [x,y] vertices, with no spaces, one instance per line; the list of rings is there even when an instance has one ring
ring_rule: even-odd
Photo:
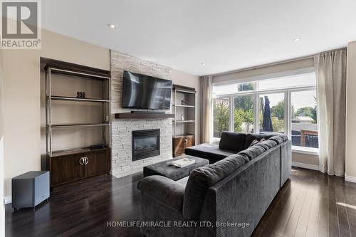
[[[75,153],[91,145],[110,147],[110,72],[44,67],[47,153]],[[77,98],[84,92],[85,98]],[[66,153],[67,153],[66,152]]]

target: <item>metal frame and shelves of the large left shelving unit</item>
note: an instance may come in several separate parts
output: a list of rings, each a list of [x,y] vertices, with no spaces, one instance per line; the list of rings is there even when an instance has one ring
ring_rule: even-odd
[[[59,73],[61,75],[75,76],[80,79],[92,79],[92,80],[108,80],[108,100],[101,99],[93,99],[93,98],[74,98],[74,97],[66,97],[66,96],[58,96],[52,94],[52,77],[51,74]],[[57,151],[53,151],[53,129],[60,129],[63,127],[103,127],[103,144],[106,145],[106,141],[108,141],[108,147],[111,147],[111,78],[95,75],[90,73],[82,73],[77,72],[75,70],[64,70],[55,67],[45,67],[45,88],[46,88],[46,152],[52,157],[53,153]],[[53,124],[52,120],[52,103],[53,100],[67,100],[67,101],[80,101],[80,102],[102,102],[103,105],[108,105],[108,112],[105,112],[105,107],[103,106],[103,121],[105,117],[108,116],[108,122],[100,122],[100,123],[82,123],[82,124],[64,124],[64,125],[56,125]],[[106,128],[108,127],[108,132]],[[83,149],[85,147],[81,147]],[[75,149],[68,149],[75,150]]]

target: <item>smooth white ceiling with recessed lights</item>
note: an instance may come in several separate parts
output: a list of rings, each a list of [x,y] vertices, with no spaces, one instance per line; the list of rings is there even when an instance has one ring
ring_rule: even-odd
[[[355,0],[43,0],[42,10],[50,31],[194,75],[356,40]]]

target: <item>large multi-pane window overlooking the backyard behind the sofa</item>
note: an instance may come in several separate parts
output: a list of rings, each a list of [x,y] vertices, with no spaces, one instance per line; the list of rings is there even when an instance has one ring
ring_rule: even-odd
[[[293,149],[318,149],[314,72],[214,85],[213,94],[213,137],[223,131],[283,133]]]

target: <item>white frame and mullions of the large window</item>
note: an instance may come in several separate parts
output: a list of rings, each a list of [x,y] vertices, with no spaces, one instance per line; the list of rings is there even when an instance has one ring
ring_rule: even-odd
[[[305,71],[306,73],[313,73],[310,71]],[[304,74],[304,73],[297,73],[298,74]],[[315,71],[314,71],[315,73]],[[278,77],[276,77],[278,78]],[[273,78],[266,78],[266,79],[273,79]],[[310,91],[310,90],[315,90],[317,91],[317,86],[316,85],[302,85],[302,86],[292,86],[290,88],[278,88],[278,89],[272,89],[272,90],[258,90],[258,80],[256,81],[248,81],[246,82],[241,81],[241,83],[256,83],[256,88],[254,90],[248,90],[248,91],[239,91],[236,93],[226,93],[226,94],[221,94],[221,95],[213,95],[213,100],[214,99],[219,99],[219,98],[229,98],[229,131],[234,132],[234,98],[237,96],[243,96],[243,95],[253,95],[253,100],[254,100],[254,106],[253,106],[253,133],[258,134],[260,127],[260,119],[258,117],[258,111],[260,109],[260,105],[258,102],[258,98],[260,95],[265,95],[265,94],[275,94],[275,93],[284,93],[284,112],[285,112],[285,118],[288,118],[288,121],[285,120],[285,132],[284,134],[288,136],[289,139],[292,137],[292,115],[290,113],[291,111],[291,97],[292,93],[294,92],[301,92],[301,91]],[[219,85],[219,84],[217,84]],[[214,86],[214,85],[213,85]],[[317,93],[318,96],[318,93]],[[318,106],[318,105],[317,105]],[[214,107],[211,107],[214,110]],[[211,111],[211,113],[214,113],[214,111]],[[214,121],[211,120],[211,130],[214,130]],[[211,142],[217,143],[219,142],[220,138],[219,137],[214,137],[213,134],[211,133]],[[313,150],[310,150],[310,147],[296,147],[293,146],[292,150],[293,152],[299,152],[299,153],[308,153],[308,154],[318,154],[319,149],[318,148],[313,148]]]

